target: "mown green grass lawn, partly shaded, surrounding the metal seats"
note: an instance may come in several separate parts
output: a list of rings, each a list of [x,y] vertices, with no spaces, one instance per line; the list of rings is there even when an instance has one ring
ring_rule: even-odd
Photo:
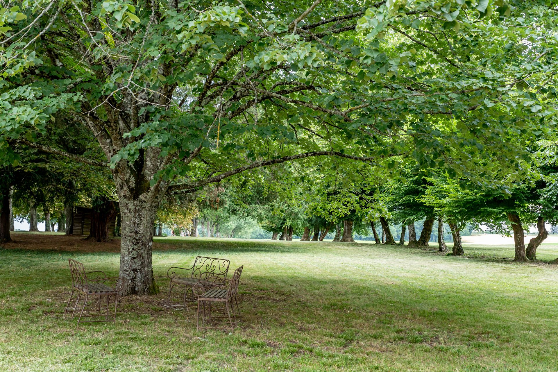
[[[52,236],[56,239],[56,236]],[[117,274],[114,252],[0,249],[1,371],[556,371],[558,267],[513,248],[469,258],[363,243],[160,238],[161,294],[118,321],[64,315],[68,258]],[[240,328],[198,332],[165,308],[166,269],[196,255],[244,265]],[[539,257],[558,257],[558,245]]]

